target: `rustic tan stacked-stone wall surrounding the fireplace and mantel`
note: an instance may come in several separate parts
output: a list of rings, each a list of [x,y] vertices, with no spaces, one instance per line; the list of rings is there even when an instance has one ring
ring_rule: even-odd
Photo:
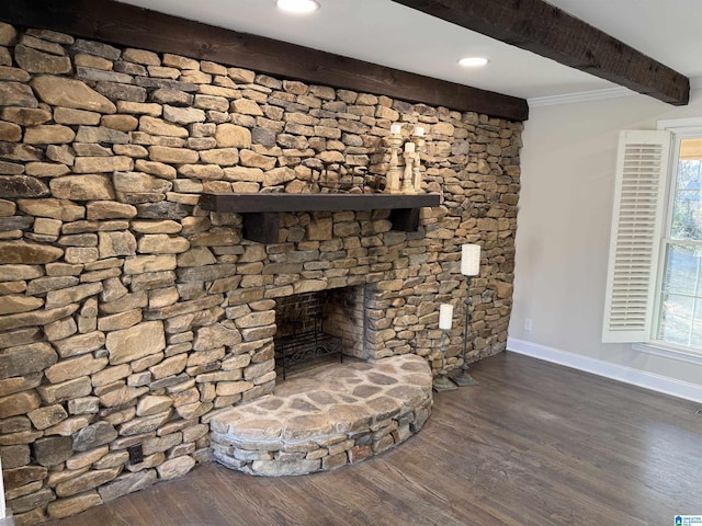
[[[390,124],[428,129],[417,233],[388,210],[284,214],[280,243],[203,192],[382,180]],[[438,365],[438,305],[479,243],[471,358],[506,346],[521,124],[0,23],[0,454],[21,525],[208,461],[210,419],[275,384],[275,298],[363,285],[372,357]],[[363,170],[358,170],[362,168]],[[370,183],[369,183],[370,184]],[[367,190],[367,188],[366,188]],[[128,462],[140,444],[144,461]]]

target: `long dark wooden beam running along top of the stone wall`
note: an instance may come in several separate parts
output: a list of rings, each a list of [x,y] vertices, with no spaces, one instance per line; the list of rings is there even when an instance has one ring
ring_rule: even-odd
[[[244,13],[242,13],[244,14]],[[529,117],[526,101],[353,58],[224,30],[112,0],[3,0],[0,20],[116,45],[172,53],[335,88],[484,113]]]

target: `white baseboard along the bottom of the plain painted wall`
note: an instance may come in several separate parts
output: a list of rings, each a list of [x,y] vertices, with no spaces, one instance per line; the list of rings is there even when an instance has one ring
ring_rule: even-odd
[[[653,391],[664,392],[672,397],[684,398],[694,402],[702,402],[702,386],[676,380],[666,376],[646,373],[624,365],[612,364],[603,359],[591,358],[579,354],[568,353],[558,348],[547,347],[537,343],[509,338],[507,350],[525,356],[564,365]]]

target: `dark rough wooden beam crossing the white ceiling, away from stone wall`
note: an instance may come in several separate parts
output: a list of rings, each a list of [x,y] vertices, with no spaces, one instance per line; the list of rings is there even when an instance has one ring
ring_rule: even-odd
[[[689,102],[687,77],[543,0],[393,1],[669,104]]]

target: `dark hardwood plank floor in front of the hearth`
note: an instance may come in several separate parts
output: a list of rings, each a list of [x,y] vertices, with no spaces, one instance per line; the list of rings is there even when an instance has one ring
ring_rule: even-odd
[[[356,466],[216,464],[52,526],[672,525],[702,514],[700,404],[502,353],[419,435]]]

